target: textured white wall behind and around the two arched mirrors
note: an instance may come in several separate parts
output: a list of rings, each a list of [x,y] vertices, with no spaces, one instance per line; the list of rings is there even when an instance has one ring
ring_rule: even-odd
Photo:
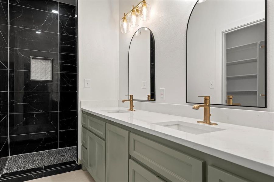
[[[119,1],[119,17],[139,1]],[[155,38],[156,101],[157,103],[186,103],[186,27],[192,1],[148,1],[151,19],[140,22],[140,27],[151,29]],[[267,108],[220,106],[246,110],[274,111],[274,1],[267,5]],[[127,55],[130,39],[138,28],[119,35],[119,99],[128,90]],[[159,88],[165,88],[165,100],[160,100]],[[218,107],[212,105],[212,107]]]

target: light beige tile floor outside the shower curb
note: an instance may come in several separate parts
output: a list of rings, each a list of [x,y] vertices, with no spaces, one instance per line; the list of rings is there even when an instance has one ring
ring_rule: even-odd
[[[68,173],[42,177],[28,182],[95,182],[88,171],[76,170]]]

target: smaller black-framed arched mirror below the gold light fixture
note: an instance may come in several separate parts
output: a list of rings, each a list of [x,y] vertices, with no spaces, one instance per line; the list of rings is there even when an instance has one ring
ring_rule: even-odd
[[[150,29],[138,29],[128,52],[128,93],[134,100],[155,100],[155,42]]]

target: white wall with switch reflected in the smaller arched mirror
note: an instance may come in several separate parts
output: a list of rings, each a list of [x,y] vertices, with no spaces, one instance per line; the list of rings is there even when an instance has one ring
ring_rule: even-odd
[[[134,99],[147,100],[150,93],[150,31],[140,29],[134,35],[129,50],[129,94]],[[143,89],[142,82],[146,82]]]

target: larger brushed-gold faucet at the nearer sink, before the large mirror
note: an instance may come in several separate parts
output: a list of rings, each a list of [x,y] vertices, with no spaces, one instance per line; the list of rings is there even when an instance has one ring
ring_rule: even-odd
[[[198,110],[200,107],[204,108],[203,121],[197,121],[197,123],[209,124],[209,125],[217,125],[217,123],[210,122],[210,96],[198,96],[204,98],[204,104],[196,104],[192,107],[192,109]]]

